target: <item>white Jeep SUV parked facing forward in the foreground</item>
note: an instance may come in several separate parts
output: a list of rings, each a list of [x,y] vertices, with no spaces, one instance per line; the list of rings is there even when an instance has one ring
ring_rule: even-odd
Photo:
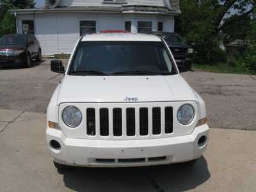
[[[76,44],[47,108],[56,168],[195,162],[208,143],[204,100],[163,38],[97,33]]]

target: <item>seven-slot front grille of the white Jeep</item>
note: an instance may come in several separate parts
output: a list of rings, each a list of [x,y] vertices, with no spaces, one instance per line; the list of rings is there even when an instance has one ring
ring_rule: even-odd
[[[124,134],[128,137],[170,134],[173,132],[173,108],[165,107],[162,109],[160,107],[139,108],[138,113],[136,113],[135,108],[100,108],[98,119],[100,132],[98,134],[100,136],[110,135],[115,137],[121,137]],[[96,110],[95,108],[86,109],[88,136],[97,134],[95,131]],[[136,121],[138,122],[138,127],[136,127]],[[124,122],[126,123],[124,124]],[[161,130],[162,123],[164,124],[164,130]],[[149,124],[152,126],[151,132],[149,131]]]

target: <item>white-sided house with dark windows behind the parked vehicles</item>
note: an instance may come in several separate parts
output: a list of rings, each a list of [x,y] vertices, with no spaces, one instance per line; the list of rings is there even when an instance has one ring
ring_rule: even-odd
[[[42,54],[70,54],[86,33],[174,31],[179,0],[46,0],[45,8],[11,10],[17,33],[33,33]]]

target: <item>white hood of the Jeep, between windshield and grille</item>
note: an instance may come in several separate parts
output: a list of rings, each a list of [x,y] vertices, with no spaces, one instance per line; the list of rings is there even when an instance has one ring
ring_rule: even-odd
[[[175,76],[65,76],[58,92],[58,105],[67,102],[197,101],[193,89]]]

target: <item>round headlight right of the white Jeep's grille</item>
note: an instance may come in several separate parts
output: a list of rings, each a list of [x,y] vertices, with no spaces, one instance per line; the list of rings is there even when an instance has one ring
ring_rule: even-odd
[[[193,106],[190,104],[184,104],[181,106],[177,112],[177,118],[182,125],[190,124],[195,116],[195,111]]]

